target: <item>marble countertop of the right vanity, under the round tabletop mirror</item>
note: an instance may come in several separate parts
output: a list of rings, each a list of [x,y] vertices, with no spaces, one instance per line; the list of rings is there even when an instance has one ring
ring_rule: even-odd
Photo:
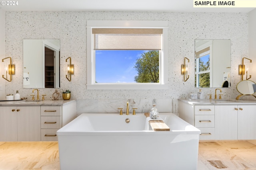
[[[256,105],[256,100],[236,99],[178,99],[191,105]]]

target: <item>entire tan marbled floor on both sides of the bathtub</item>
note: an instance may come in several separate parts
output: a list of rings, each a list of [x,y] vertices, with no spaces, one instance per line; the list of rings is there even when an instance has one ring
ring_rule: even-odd
[[[256,145],[200,142],[197,170],[256,170]],[[0,170],[60,170],[58,142],[0,142]]]

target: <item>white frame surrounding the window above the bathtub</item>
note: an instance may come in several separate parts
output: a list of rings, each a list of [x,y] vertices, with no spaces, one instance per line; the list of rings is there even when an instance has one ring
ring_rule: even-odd
[[[160,56],[159,83],[95,83],[95,51],[92,28],[161,28],[162,50]],[[87,84],[88,90],[148,90],[168,89],[168,21],[87,21]]]

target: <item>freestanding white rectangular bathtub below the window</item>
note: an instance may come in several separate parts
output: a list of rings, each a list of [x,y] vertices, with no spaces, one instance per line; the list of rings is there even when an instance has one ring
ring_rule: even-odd
[[[159,116],[170,131],[148,129],[143,113],[81,114],[57,131],[61,170],[196,170],[200,130]]]

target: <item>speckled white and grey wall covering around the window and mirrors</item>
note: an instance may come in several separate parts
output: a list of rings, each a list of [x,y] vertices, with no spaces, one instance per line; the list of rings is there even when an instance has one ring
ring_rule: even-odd
[[[21,97],[30,98],[32,89],[23,89],[23,39],[60,39],[60,89],[72,91],[78,105],[86,99],[140,100],[168,99],[170,111],[174,100],[188,98],[194,88],[194,40],[231,40],[231,88],[222,90],[222,98],[236,98],[240,81],[238,65],[248,57],[247,13],[180,13],[180,12],[6,12],[6,57],[12,57],[16,74],[6,82],[6,94],[19,90]],[[86,21],[87,20],[167,20],[168,29],[168,90],[86,90]],[[72,57],[75,74],[66,80],[65,59]],[[190,59],[190,78],[183,81],[180,67],[184,57]],[[221,62],[221,61],[220,61]],[[54,89],[39,89],[50,99]],[[203,88],[205,97],[215,88]],[[173,101],[172,101],[173,100]],[[152,102],[150,102],[150,105]],[[175,111],[174,111],[175,112]]]

